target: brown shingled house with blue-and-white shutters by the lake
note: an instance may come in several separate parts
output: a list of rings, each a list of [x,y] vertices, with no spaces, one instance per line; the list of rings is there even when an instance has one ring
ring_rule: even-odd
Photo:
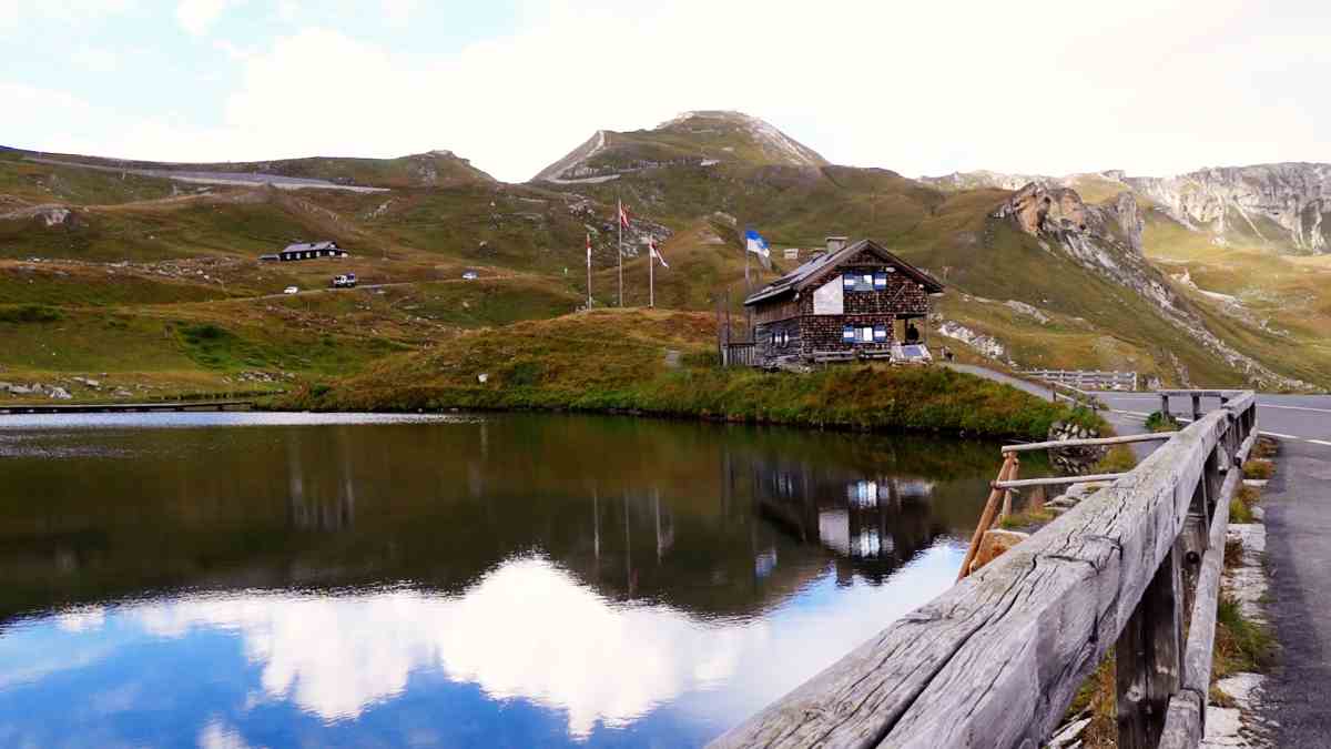
[[[825,253],[744,300],[755,364],[889,359],[942,284],[873,240],[828,237]],[[921,328],[922,328],[921,323]]]

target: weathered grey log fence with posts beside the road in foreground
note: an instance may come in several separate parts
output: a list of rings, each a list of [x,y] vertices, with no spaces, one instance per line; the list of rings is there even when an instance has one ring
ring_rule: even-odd
[[[1111,646],[1118,745],[1197,746],[1229,501],[1258,433],[1254,394],[1227,398],[713,746],[1034,749]]]

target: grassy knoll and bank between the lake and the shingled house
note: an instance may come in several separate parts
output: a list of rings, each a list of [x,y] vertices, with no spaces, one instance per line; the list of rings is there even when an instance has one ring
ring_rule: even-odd
[[[461,345],[274,400],[307,410],[630,413],[848,430],[1044,438],[1098,425],[1008,385],[942,368],[837,367],[804,374],[721,369],[707,315],[602,311],[479,331]],[[478,374],[486,374],[486,382]]]

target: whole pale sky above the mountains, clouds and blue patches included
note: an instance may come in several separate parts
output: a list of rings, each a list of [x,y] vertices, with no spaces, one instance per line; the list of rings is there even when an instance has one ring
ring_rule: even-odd
[[[1331,161],[1328,27],[1303,0],[0,0],[0,144],[449,149],[523,181],[596,129],[737,109],[906,176]]]

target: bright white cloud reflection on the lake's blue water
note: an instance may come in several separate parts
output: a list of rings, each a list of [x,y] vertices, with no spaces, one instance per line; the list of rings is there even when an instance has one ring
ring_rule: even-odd
[[[888,593],[897,588],[889,584],[832,596],[819,589],[831,584],[828,574],[779,610],[743,621],[615,604],[536,556],[508,560],[454,597],[410,589],[246,593],[137,604],[125,613],[156,637],[196,628],[238,633],[261,668],[266,697],[325,721],[354,720],[401,694],[413,673],[433,670],[492,700],[560,710],[570,736],[586,738],[598,722],[624,726],[725,682],[728,689],[684,709],[707,713],[695,716],[704,720],[741,717],[921,604],[916,592],[946,588],[954,556],[942,545],[921,554],[901,594]],[[862,616],[845,616],[847,605]],[[785,657],[792,652],[797,657]],[[792,673],[791,664],[812,670]]]

